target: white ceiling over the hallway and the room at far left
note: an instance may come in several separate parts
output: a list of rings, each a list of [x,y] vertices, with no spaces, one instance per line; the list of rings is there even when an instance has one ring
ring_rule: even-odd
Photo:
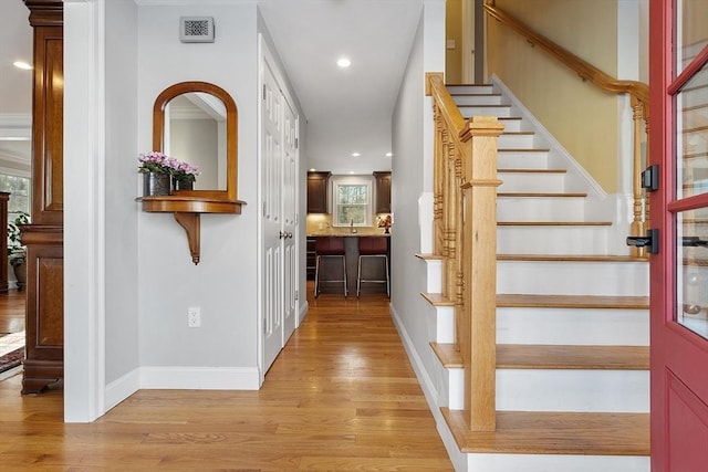
[[[423,0],[259,3],[308,119],[306,167],[333,174],[389,170],[393,108]],[[31,113],[31,72],[12,62],[31,62],[32,32],[22,0],[4,0],[0,9],[0,167],[22,160],[29,166],[30,143],[3,137],[19,116]],[[218,24],[216,30],[218,41]],[[352,65],[339,67],[341,56]]]

